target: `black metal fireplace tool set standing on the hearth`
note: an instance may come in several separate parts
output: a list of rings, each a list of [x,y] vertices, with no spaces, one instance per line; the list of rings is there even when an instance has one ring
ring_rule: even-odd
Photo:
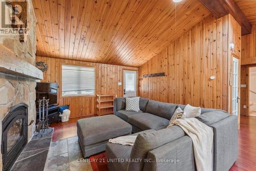
[[[47,131],[47,133],[51,133],[53,130],[51,127],[49,127],[48,106],[49,106],[49,99],[45,99],[45,97],[43,97],[42,99],[38,100],[39,119],[37,120],[34,135],[40,134],[40,130],[42,130],[41,131],[41,137],[42,137],[42,133],[44,133],[45,131]],[[42,109],[42,111],[41,111],[41,109]],[[42,114],[42,116],[41,116],[41,114]]]

